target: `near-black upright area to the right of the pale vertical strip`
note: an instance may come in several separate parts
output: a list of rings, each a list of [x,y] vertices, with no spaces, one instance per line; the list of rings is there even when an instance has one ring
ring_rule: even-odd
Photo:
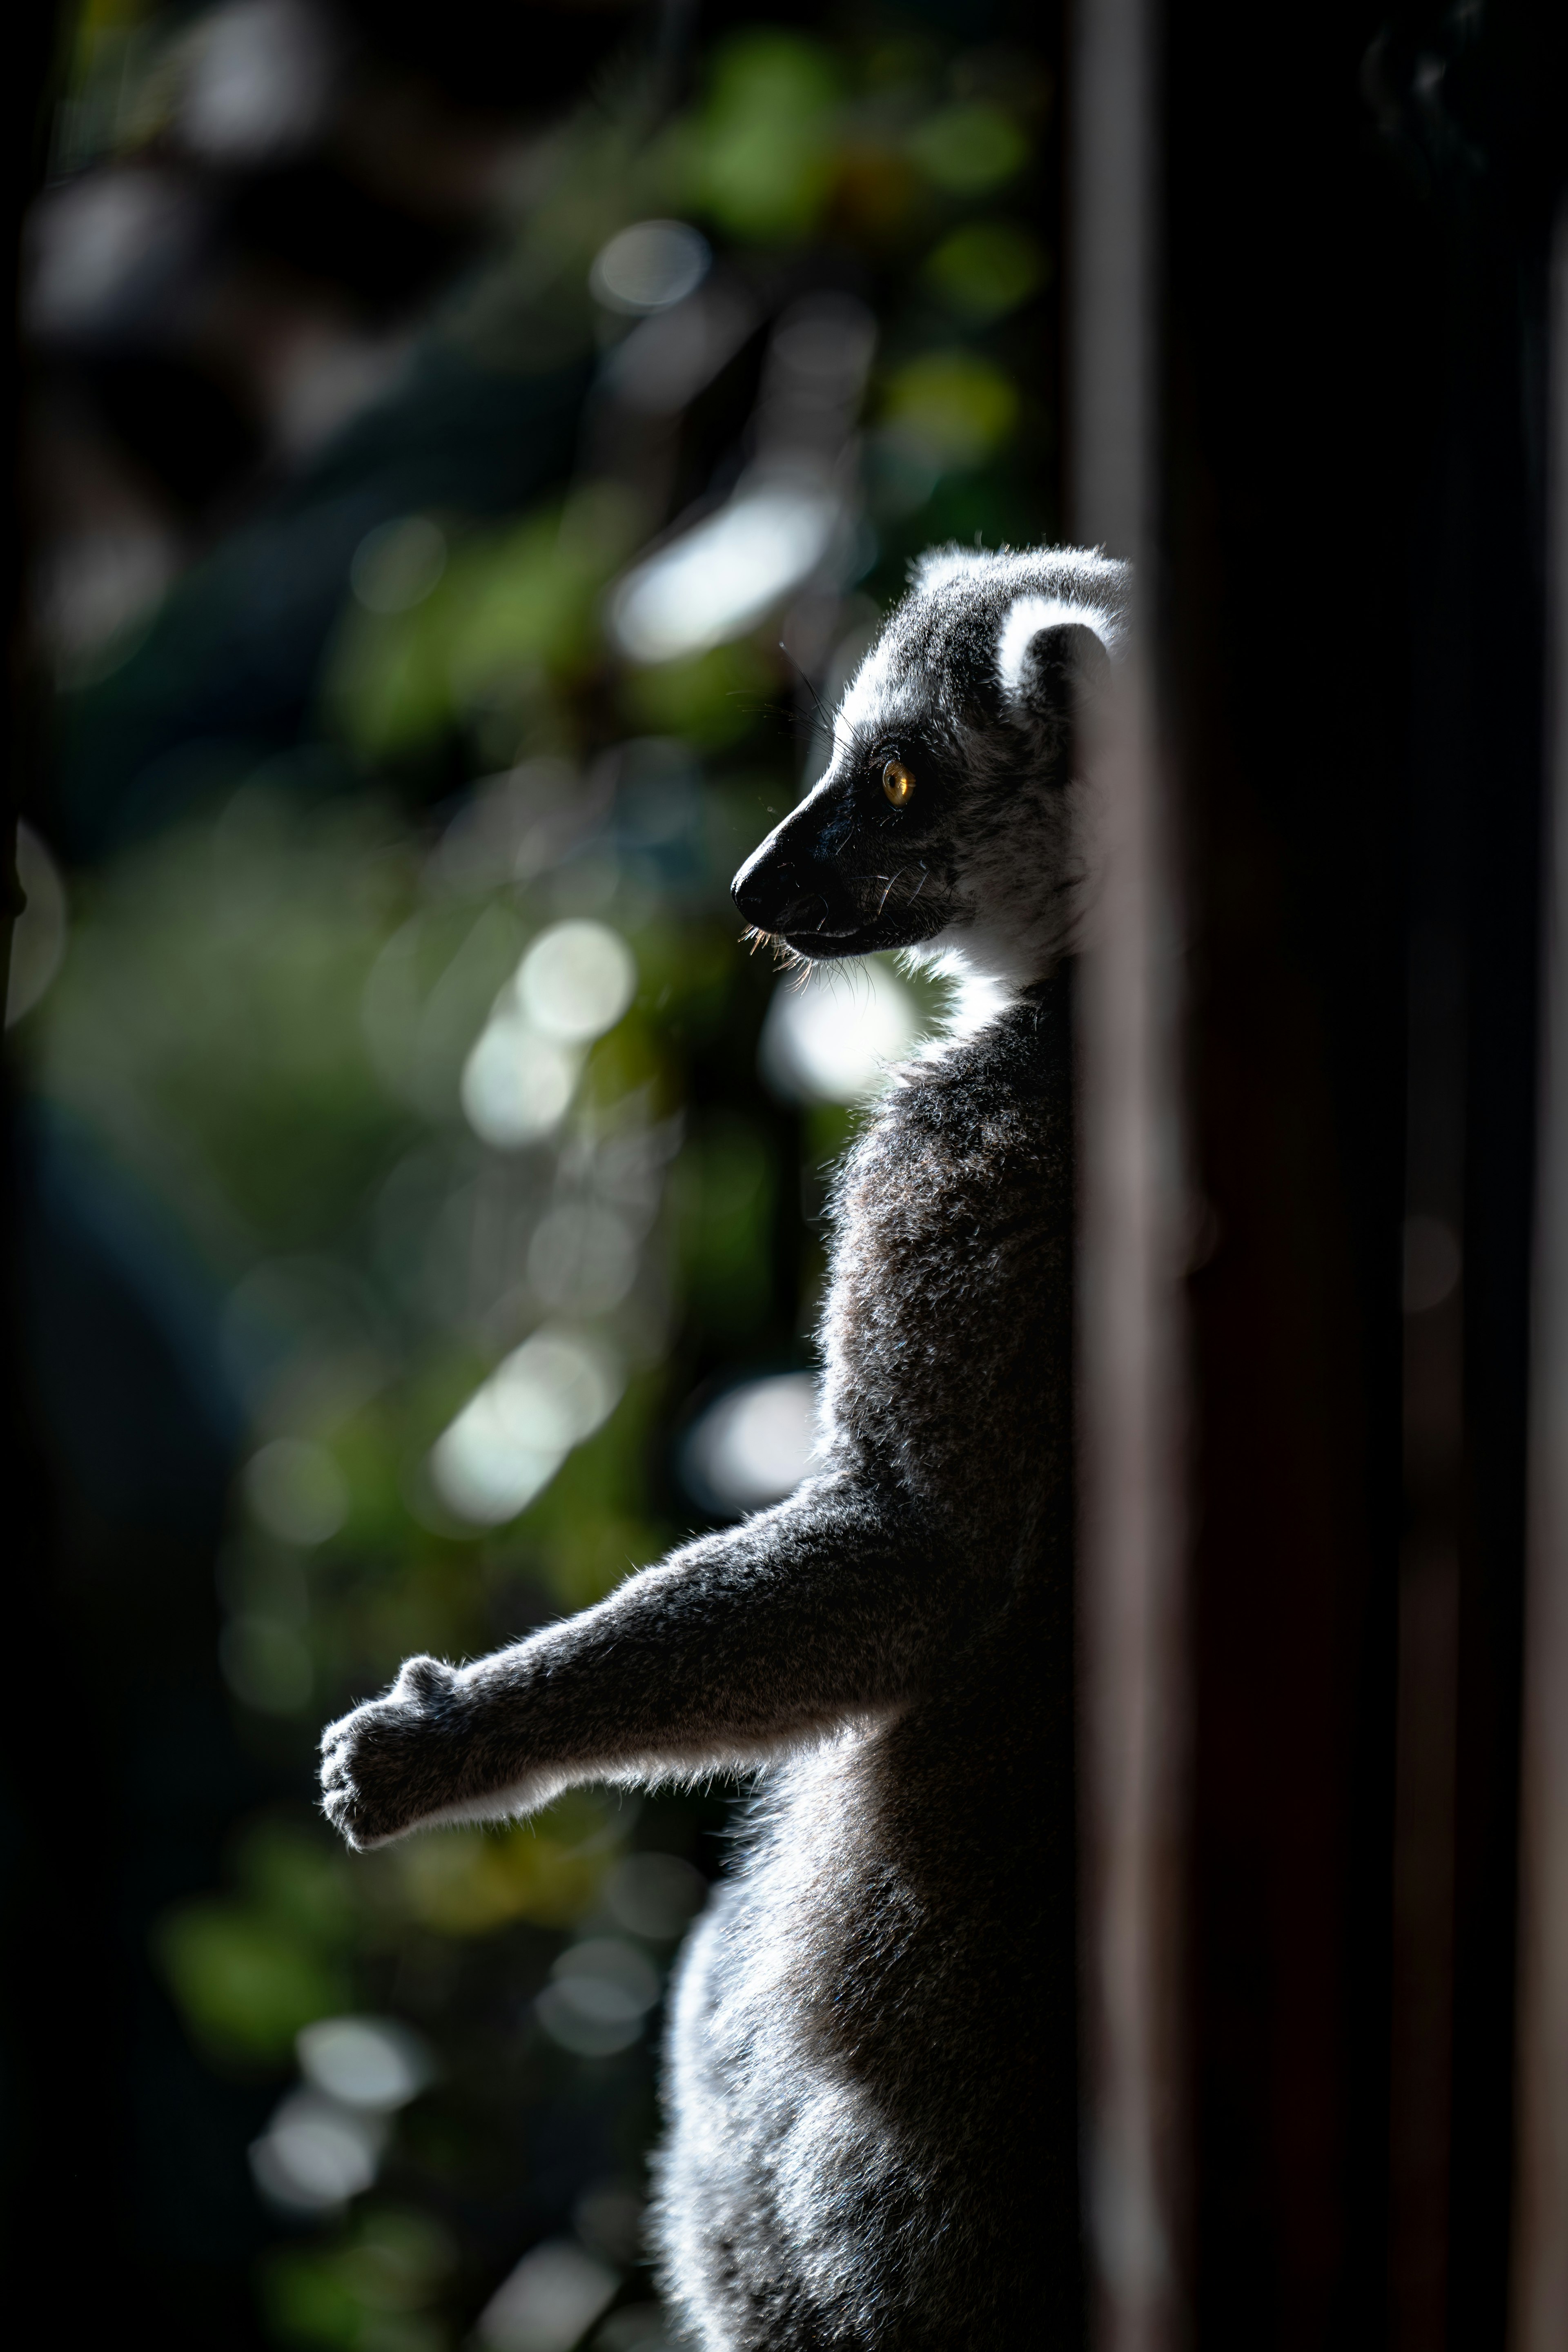
[[[1190,1282],[1194,2338],[1493,2345],[1561,19],[1175,7],[1164,45],[1161,588],[1218,1230]],[[1413,1221],[1458,1242],[1436,1301]]]

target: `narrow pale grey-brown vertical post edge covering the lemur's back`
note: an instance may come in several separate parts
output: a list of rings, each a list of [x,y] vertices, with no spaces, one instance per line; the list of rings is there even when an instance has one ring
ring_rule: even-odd
[[[1150,642],[1157,513],[1157,9],[1072,40],[1067,402],[1074,536],[1131,557],[1135,621],[1095,743],[1079,993],[1081,1851],[1091,2340],[1180,2340],[1182,1498],[1178,913]]]

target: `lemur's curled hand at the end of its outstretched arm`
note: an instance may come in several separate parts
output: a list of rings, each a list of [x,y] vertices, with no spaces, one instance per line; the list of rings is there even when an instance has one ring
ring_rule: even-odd
[[[322,1804],[355,1851],[381,1846],[461,1804],[468,1705],[463,1677],[409,1658],[386,1698],[322,1731]]]

